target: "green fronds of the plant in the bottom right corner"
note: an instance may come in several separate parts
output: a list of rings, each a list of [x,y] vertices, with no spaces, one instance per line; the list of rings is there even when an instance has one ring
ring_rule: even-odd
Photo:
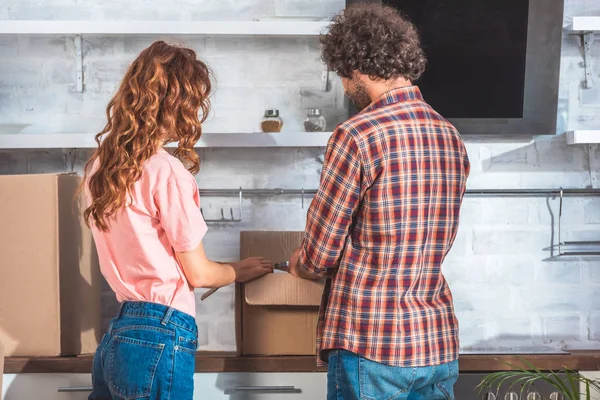
[[[520,387],[520,397],[522,397],[535,383],[546,382],[563,395],[565,400],[600,398],[592,397],[593,394],[600,394],[600,381],[588,379],[568,368],[559,372],[542,372],[527,360],[523,360],[523,364],[526,369],[507,364],[511,368],[510,371],[493,372],[487,375],[477,386],[479,394],[483,394],[484,391],[498,392],[503,386],[509,389]]]

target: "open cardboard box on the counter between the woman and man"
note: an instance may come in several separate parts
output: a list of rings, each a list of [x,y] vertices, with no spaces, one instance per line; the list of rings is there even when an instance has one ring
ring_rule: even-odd
[[[242,232],[240,257],[288,260],[302,232]],[[238,350],[244,355],[312,355],[323,282],[285,272],[238,285]]]

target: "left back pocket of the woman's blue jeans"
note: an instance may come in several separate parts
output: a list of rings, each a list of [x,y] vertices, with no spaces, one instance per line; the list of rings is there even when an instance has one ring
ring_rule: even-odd
[[[111,392],[125,400],[149,397],[165,345],[114,336],[108,347],[105,372]]]

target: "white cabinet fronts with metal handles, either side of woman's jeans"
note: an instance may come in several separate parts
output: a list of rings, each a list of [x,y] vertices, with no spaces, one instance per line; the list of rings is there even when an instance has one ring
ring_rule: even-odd
[[[327,387],[325,373],[207,373],[194,382],[198,400],[318,400]],[[89,374],[6,374],[2,390],[4,400],[84,400],[90,385]]]

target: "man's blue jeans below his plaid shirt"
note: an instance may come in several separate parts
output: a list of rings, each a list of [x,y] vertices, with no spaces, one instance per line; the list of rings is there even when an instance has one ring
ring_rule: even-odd
[[[433,367],[379,364],[346,350],[329,353],[328,400],[454,400],[458,361]]]

